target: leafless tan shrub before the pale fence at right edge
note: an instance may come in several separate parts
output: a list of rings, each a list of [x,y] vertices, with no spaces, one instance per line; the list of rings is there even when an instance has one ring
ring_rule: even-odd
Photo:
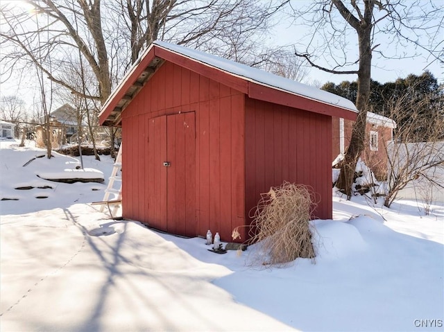
[[[436,96],[416,99],[407,92],[388,101],[392,119],[404,119],[409,114],[412,121],[398,121],[393,141],[384,146],[388,156],[386,207],[391,207],[400,191],[409,185],[444,189],[443,105],[442,87]],[[424,113],[424,109],[429,111]],[[427,130],[425,123],[429,124]]]

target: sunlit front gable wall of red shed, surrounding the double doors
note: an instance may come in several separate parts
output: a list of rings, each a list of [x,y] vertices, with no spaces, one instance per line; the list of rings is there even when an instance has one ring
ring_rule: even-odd
[[[148,158],[150,119],[195,112],[196,234],[219,231],[230,241],[232,229],[244,225],[245,97],[214,80],[164,62],[122,113],[123,216],[164,230],[167,220],[153,204],[164,200],[167,188],[156,180]],[[153,189],[153,184],[159,186]],[[188,194],[187,194],[188,195]],[[151,204],[151,206],[150,206]]]

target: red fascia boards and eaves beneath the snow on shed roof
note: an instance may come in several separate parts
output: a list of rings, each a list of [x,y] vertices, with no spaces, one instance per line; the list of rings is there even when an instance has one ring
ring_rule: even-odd
[[[269,86],[262,82],[257,82],[244,76],[231,73],[230,71],[214,67],[211,64],[200,62],[200,60],[189,58],[187,55],[166,49],[157,44],[151,44],[139,59],[140,60],[133,65],[133,68],[128,71],[128,74],[126,74],[121,83],[114,89],[105,105],[103,105],[102,111],[99,114],[99,123],[101,125],[121,125],[121,112],[125,110],[130,101],[135,98],[137,93],[164,61],[173,62],[205,77],[211,77],[232,89],[243,92],[250,98],[279,105],[287,105],[318,114],[338,116],[353,121],[357,118],[356,110],[350,110],[343,107],[343,105],[333,105],[318,99],[296,94],[292,91],[287,91],[286,89]],[[319,103],[321,103],[323,107],[319,107]]]

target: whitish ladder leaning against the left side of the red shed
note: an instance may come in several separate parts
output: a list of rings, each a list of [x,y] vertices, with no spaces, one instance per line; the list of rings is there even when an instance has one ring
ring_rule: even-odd
[[[108,186],[105,189],[105,195],[103,195],[103,201],[101,202],[93,202],[92,205],[100,204],[100,211],[105,211],[105,207],[108,207],[108,211],[110,212],[111,218],[114,219],[115,214],[119,210],[122,204],[122,176],[121,176],[121,168],[122,168],[122,143],[120,144],[119,152],[117,152],[116,161],[112,166],[111,176],[108,180]],[[111,195],[114,195],[112,199]],[[112,205],[112,209],[111,206]]]

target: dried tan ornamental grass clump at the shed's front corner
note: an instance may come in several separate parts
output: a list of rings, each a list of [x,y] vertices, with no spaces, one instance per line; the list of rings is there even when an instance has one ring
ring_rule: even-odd
[[[279,265],[298,257],[314,260],[309,221],[316,206],[314,194],[300,184],[284,182],[261,194],[253,209],[248,244],[257,243],[251,264]],[[253,234],[252,234],[253,233]],[[232,233],[239,237],[239,227]]]

